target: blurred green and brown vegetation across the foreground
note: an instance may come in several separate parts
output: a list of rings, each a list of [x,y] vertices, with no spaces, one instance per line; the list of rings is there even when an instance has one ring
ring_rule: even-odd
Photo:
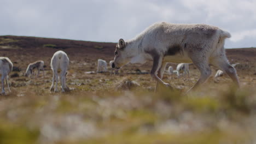
[[[0,101],[0,143],[256,142],[256,94],[245,88],[37,93]]]

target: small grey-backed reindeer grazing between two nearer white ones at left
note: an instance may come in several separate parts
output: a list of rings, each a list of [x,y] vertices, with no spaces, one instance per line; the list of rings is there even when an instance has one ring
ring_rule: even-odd
[[[44,61],[36,61],[36,62],[28,64],[25,76],[33,75],[33,69],[35,69],[35,68],[38,70],[38,73],[37,73],[37,77],[38,77],[40,70],[43,70],[43,72],[44,72]],[[44,75],[45,75],[45,73],[44,73]]]

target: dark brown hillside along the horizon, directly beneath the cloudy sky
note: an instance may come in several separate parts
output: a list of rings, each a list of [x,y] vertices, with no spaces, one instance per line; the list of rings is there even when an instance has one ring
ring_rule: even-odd
[[[0,49],[8,46],[16,46],[25,50],[37,49],[44,51],[46,48],[65,49],[70,51],[84,52],[86,55],[103,55],[113,56],[115,43],[101,43],[93,41],[69,40],[69,39],[53,39],[39,37],[20,37],[12,35],[0,36]],[[226,49],[226,53],[230,57],[248,58],[255,57],[256,48],[243,49]]]

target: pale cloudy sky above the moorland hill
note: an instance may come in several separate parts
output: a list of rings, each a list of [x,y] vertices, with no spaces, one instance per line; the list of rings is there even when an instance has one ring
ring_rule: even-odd
[[[205,23],[226,48],[256,47],[256,0],[1,0],[0,35],[117,43],[155,22]]]

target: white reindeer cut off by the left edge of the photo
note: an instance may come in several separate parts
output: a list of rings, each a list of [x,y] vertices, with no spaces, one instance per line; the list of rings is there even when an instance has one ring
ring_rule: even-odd
[[[2,92],[1,94],[5,94],[4,91],[4,79],[6,80],[6,84],[8,87],[8,90],[10,92],[9,88],[9,74],[13,71],[13,63],[11,63],[10,59],[8,57],[0,57],[0,74],[2,75],[1,81],[2,81]]]

